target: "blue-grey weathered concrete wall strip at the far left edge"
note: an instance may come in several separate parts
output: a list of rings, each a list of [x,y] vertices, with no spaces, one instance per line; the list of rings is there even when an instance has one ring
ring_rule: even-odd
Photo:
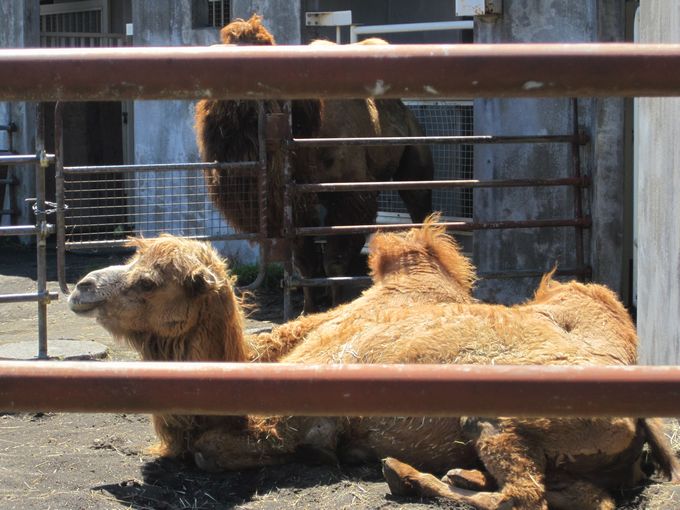
[[[0,48],[34,48],[39,45],[39,0],[13,0],[0,2]],[[35,104],[0,102],[0,124],[14,122],[18,131],[13,134],[14,149],[21,154],[35,153]],[[3,136],[5,136],[3,134]],[[0,141],[0,147],[6,147],[6,138]],[[35,168],[32,165],[11,167],[10,174],[14,175],[19,184],[15,187],[17,196],[16,206],[19,215],[16,224],[32,224],[33,214],[30,204],[26,204],[24,197],[35,196]],[[9,217],[0,219],[3,224],[9,223]],[[22,241],[29,241],[22,238]]]

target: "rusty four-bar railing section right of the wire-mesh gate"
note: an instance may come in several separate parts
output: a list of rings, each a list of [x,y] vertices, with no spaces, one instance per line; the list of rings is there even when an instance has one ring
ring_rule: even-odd
[[[500,229],[526,229],[526,228],[575,228],[575,259],[576,266],[562,269],[561,274],[576,276],[579,279],[590,277],[591,268],[585,264],[583,251],[583,229],[591,226],[591,219],[584,215],[582,207],[581,190],[590,186],[590,179],[581,175],[580,148],[588,143],[588,137],[579,129],[578,123],[578,100],[572,98],[572,125],[573,131],[568,135],[525,135],[525,136],[419,136],[419,137],[370,137],[370,138],[304,138],[291,139],[285,147],[285,161],[287,174],[285,182],[286,192],[284,195],[284,221],[286,224],[285,236],[290,241],[297,236],[333,236],[348,234],[371,234],[378,231],[396,231],[422,224],[402,223],[389,225],[332,225],[319,227],[297,227],[292,217],[292,201],[302,193],[333,193],[342,191],[387,191],[387,190],[414,190],[414,189],[444,189],[444,188],[517,188],[517,187],[556,187],[571,186],[574,188],[574,217],[556,218],[543,220],[522,221],[493,221],[473,222],[456,221],[442,222],[447,230],[454,232],[472,232],[476,230],[500,230]],[[290,137],[290,133],[288,134]],[[360,146],[378,147],[393,145],[430,145],[430,144],[569,144],[571,149],[571,176],[559,179],[506,179],[506,180],[439,180],[439,181],[407,181],[407,182],[352,182],[352,183],[314,183],[297,184],[293,182],[289,151],[298,147],[333,147],[333,146]],[[288,253],[292,258],[292,253]],[[497,271],[486,272],[480,276],[484,278],[514,278],[527,276],[540,276],[541,271]],[[284,266],[284,307],[283,317],[289,320],[293,316],[291,307],[291,292],[297,287],[323,287],[330,285],[366,286],[371,279],[365,276],[341,276],[326,278],[309,278],[296,275],[293,271],[293,263]]]

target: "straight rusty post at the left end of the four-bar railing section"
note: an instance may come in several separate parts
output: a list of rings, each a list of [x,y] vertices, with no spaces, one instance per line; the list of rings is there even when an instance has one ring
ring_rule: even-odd
[[[281,149],[283,150],[283,236],[286,240],[286,257],[283,263],[283,320],[290,320],[293,315],[291,303],[290,282],[293,277],[293,198],[291,185],[293,184],[290,168],[290,145],[293,137],[293,120],[291,116],[291,102],[283,103],[283,113],[286,115],[286,135]]]

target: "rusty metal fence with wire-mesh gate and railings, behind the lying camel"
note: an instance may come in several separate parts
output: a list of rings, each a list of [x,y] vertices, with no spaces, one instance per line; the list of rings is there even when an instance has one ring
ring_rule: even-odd
[[[289,109],[290,110],[290,109]],[[290,115],[290,113],[288,113]],[[573,215],[568,218],[549,220],[499,221],[475,223],[469,217],[446,221],[447,229],[453,232],[472,232],[487,229],[525,229],[525,228],[563,228],[576,229],[576,267],[563,268],[561,275],[588,277],[590,268],[584,263],[583,229],[590,225],[584,216],[581,201],[581,189],[589,185],[589,180],[581,175],[579,149],[586,143],[585,137],[578,130],[578,103],[572,100],[573,131],[563,135],[541,136],[493,136],[493,135],[439,135],[409,138],[346,138],[346,139],[294,139],[290,132],[280,133],[282,138],[270,140],[283,148],[286,156],[297,147],[322,147],[337,145],[380,146],[380,145],[432,145],[436,148],[454,147],[459,153],[468,154],[474,144],[568,144],[572,151],[572,168],[565,169],[564,178],[560,179],[513,179],[503,181],[479,181],[472,175],[463,175],[463,179],[439,179],[430,182],[372,182],[372,183],[315,183],[297,185],[290,172],[290,164],[286,164],[288,175],[284,177],[288,183],[284,194],[284,206],[281,211],[284,218],[284,241],[267,239],[267,197],[263,193],[258,196],[256,208],[259,212],[260,231],[258,233],[237,233],[226,225],[212,207],[212,200],[204,184],[200,171],[207,168],[238,169],[245,173],[254,173],[259,179],[259,189],[266,190],[266,150],[265,132],[267,130],[262,106],[260,107],[260,158],[259,161],[239,163],[175,163],[158,165],[114,165],[114,166],[64,166],[63,160],[63,118],[62,107],[58,105],[55,112],[55,147],[57,159],[57,247],[58,274],[63,292],[68,292],[65,279],[65,250],[82,248],[101,248],[121,246],[128,236],[142,235],[154,237],[161,232],[205,240],[239,240],[245,239],[260,244],[259,274],[254,288],[264,278],[269,247],[278,241],[284,246],[284,318],[292,316],[291,292],[298,287],[328,286],[332,284],[365,285],[368,277],[332,277],[301,278],[294,272],[292,251],[288,248],[293,239],[299,236],[332,236],[342,234],[369,234],[378,230],[401,230],[414,226],[411,223],[391,225],[332,225],[326,227],[301,227],[294,224],[293,201],[300,193],[332,193],[339,191],[380,191],[394,192],[399,189],[430,188],[438,192],[440,202],[449,200],[459,210],[470,207],[463,201],[470,196],[474,188],[496,187],[534,187],[534,186],[571,186],[575,188]],[[289,123],[280,123],[287,124]],[[469,171],[469,170],[468,170]],[[453,191],[453,200],[448,194]],[[241,197],[239,190],[233,190],[233,200],[252,200],[252,197]],[[459,199],[457,203],[456,199]],[[436,204],[436,202],[435,202]],[[255,204],[250,204],[255,207]],[[467,214],[471,216],[471,211]],[[124,220],[121,221],[121,218]],[[507,271],[486,275],[488,277],[540,276],[541,269],[533,271]]]

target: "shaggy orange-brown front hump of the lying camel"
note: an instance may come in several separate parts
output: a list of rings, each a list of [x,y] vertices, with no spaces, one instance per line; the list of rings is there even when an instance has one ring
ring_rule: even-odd
[[[470,296],[476,281],[475,268],[463,255],[453,237],[438,225],[439,214],[432,214],[422,228],[400,233],[378,233],[370,243],[368,265],[378,283],[398,274],[422,278],[436,274],[452,282],[461,296]]]

